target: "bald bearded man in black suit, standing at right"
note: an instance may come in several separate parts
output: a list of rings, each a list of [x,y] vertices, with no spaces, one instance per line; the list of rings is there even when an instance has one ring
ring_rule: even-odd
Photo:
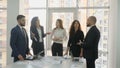
[[[95,60],[98,58],[98,43],[100,32],[96,27],[96,17],[90,16],[87,19],[87,27],[90,27],[83,45],[83,57],[86,59],[87,68],[95,68]]]

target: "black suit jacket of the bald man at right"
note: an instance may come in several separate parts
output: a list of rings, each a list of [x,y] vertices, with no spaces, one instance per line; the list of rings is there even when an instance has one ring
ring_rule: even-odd
[[[97,59],[98,58],[98,43],[100,39],[100,32],[96,26],[92,26],[88,31],[84,43],[82,45],[83,56],[86,59]]]

